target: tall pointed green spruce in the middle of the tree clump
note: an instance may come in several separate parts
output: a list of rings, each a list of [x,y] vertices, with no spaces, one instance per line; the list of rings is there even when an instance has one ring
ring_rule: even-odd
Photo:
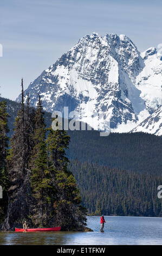
[[[46,125],[43,117],[43,107],[40,95],[38,95],[38,104],[35,113],[34,129],[34,149],[30,160],[31,187],[33,196],[36,199],[33,207],[33,222],[35,226],[44,227],[49,224],[51,218],[49,212],[49,203],[51,190],[54,186],[51,184],[50,172],[48,170],[48,153],[46,144]]]

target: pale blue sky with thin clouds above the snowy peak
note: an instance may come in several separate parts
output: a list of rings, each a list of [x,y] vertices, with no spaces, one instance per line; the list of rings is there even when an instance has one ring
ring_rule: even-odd
[[[0,4],[0,93],[24,88],[92,32],[126,34],[139,51],[162,43],[161,0],[7,0]]]

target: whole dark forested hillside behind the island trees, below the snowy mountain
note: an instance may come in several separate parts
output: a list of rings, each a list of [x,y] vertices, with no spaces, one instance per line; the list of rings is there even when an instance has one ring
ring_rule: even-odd
[[[0,98],[2,100],[4,99]],[[14,138],[14,121],[18,110],[22,111],[22,106],[15,101],[5,101],[10,115],[8,135]],[[24,106],[24,111],[28,112],[27,106]],[[35,111],[33,109],[34,113]],[[44,121],[50,127],[51,113],[44,114]],[[31,120],[31,125],[32,122]],[[18,134],[20,132],[17,131],[17,139]],[[107,137],[100,137],[100,133],[93,130],[69,130],[68,135],[70,143],[66,153],[71,160],[69,169],[75,176],[81,191],[82,204],[89,214],[161,216],[161,200],[157,197],[157,187],[162,184],[160,136],[146,133],[111,133]],[[17,147],[20,143],[15,145]],[[16,148],[17,160],[19,152],[21,150]],[[33,172],[35,176],[40,169],[35,167]],[[35,179],[32,182],[33,186],[39,187],[38,184],[35,185]]]

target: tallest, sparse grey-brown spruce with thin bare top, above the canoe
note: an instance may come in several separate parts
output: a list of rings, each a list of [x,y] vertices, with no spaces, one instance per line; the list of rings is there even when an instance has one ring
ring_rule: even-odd
[[[8,216],[4,222],[4,229],[22,227],[22,222],[30,218],[30,170],[29,166],[29,137],[32,131],[29,120],[29,102],[28,106],[24,105],[23,79],[21,110],[18,112],[14,124],[14,135],[10,139],[10,150],[8,156],[9,166],[9,207]],[[28,99],[29,101],[29,99]]]

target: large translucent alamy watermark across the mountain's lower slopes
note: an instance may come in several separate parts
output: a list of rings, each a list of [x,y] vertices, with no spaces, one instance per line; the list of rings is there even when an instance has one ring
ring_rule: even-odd
[[[100,131],[100,136],[108,136],[111,132],[110,122],[105,113],[93,113],[90,117],[90,124],[94,124],[95,127],[91,127],[87,122],[82,121],[83,114],[77,111],[69,112],[68,107],[63,108],[63,112],[54,111],[51,115],[53,118],[52,129],[56,130],[71,130],[71,131]],[[93,125],[92,125],[93,126]]]

